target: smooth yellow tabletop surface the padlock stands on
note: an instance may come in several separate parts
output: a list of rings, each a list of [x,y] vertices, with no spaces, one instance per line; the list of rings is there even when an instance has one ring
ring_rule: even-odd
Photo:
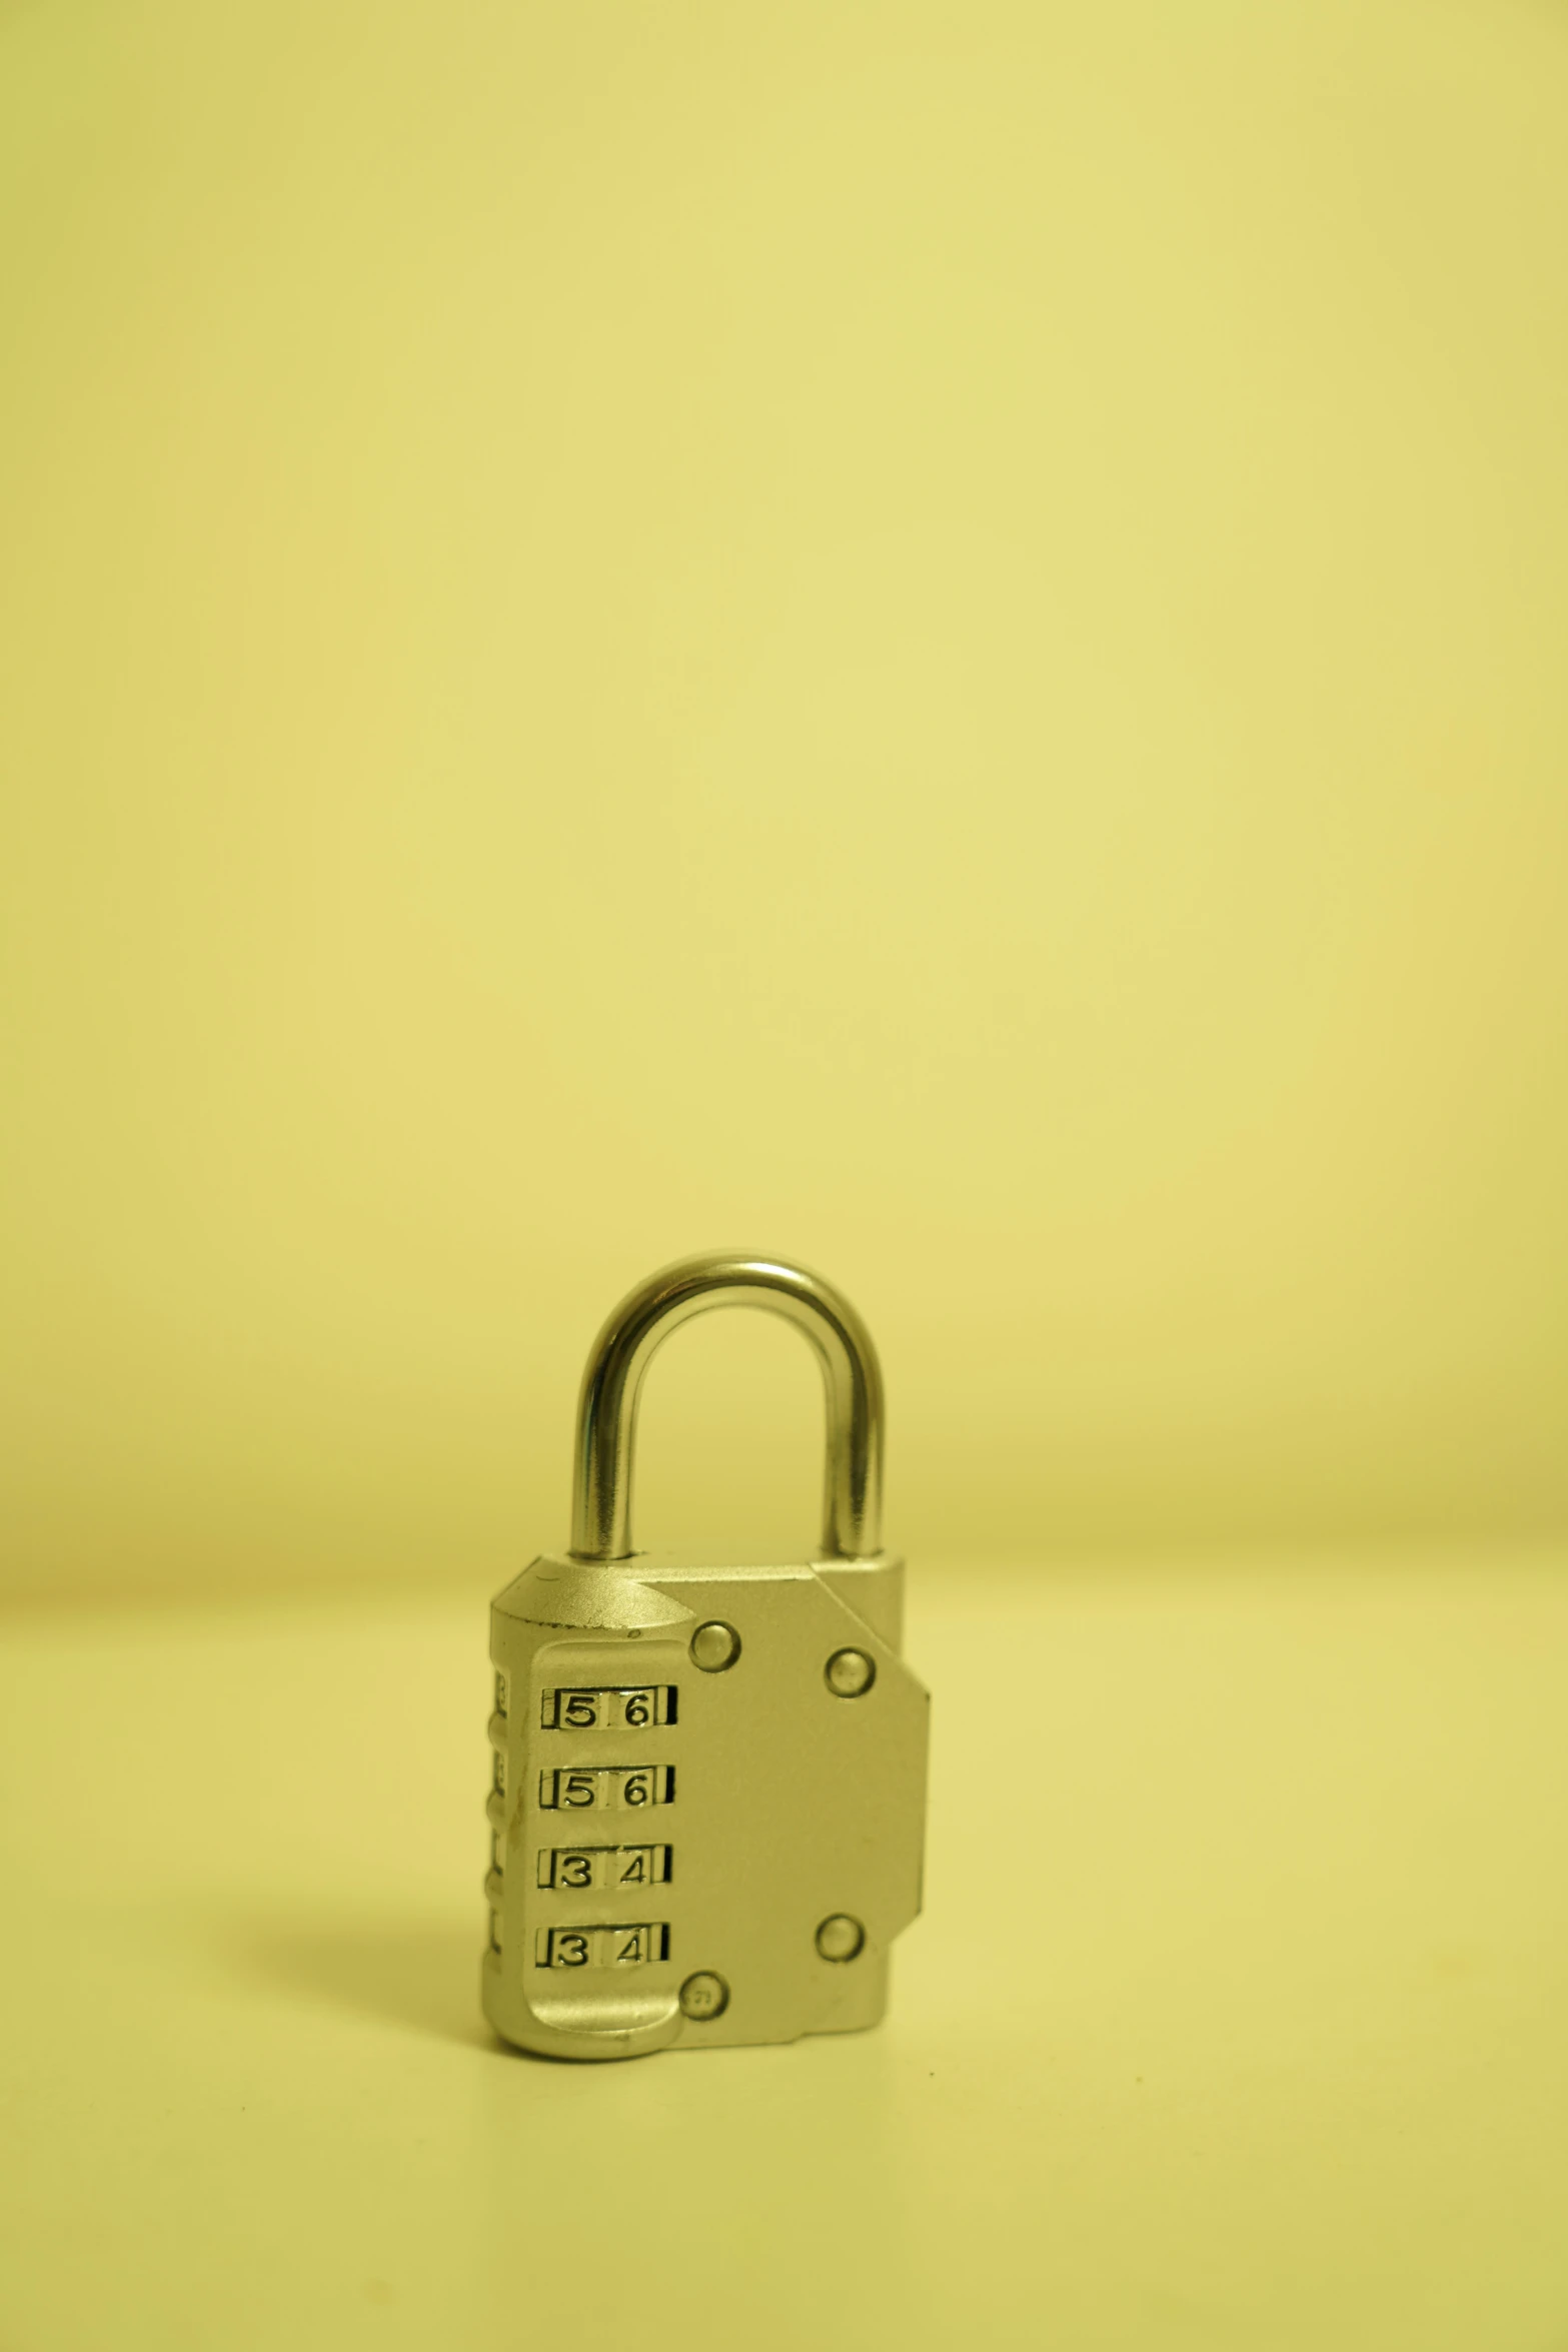
[[[480,2025],[477,1597],[12,1623],[0,2343],[1556,2352],[1566,1566],[919,1576],[889,2025],[599,2070]]]

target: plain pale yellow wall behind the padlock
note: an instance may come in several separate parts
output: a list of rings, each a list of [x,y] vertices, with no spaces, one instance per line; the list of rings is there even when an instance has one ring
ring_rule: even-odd
[[[1561,9],[35,0],[0,179],[12,1590],[498,1583],[705,1244],[917,1555],[1563,1524]]]

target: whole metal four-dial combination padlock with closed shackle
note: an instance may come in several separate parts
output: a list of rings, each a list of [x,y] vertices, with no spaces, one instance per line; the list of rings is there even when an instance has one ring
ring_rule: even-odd
[[[806,1334],[827,1390],[816,1557],[637,1552],[649,1357],[708,1308]],[[882,1374],[860,1317],[783,1258],[705,1254],[595,1341],[571,1545],[491,1604],[484,2013],[552,2058],[877,2025],[919,1912],[926,1712],[882,1550]]]

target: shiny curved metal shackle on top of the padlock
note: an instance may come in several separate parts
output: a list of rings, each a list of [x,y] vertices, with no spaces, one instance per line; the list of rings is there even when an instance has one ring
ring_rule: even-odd
[[[654,1350],[710,1308],[771,1308],[806,1334],[827,1390],[823,1559],[882,1548],[882,1369],[870,1331],[820,1275],[788,1258],[712,1249],[639,1282],[599,1331],[578,1399],[571,1470],[576,1559],[632,1557],[632,1444]]]

